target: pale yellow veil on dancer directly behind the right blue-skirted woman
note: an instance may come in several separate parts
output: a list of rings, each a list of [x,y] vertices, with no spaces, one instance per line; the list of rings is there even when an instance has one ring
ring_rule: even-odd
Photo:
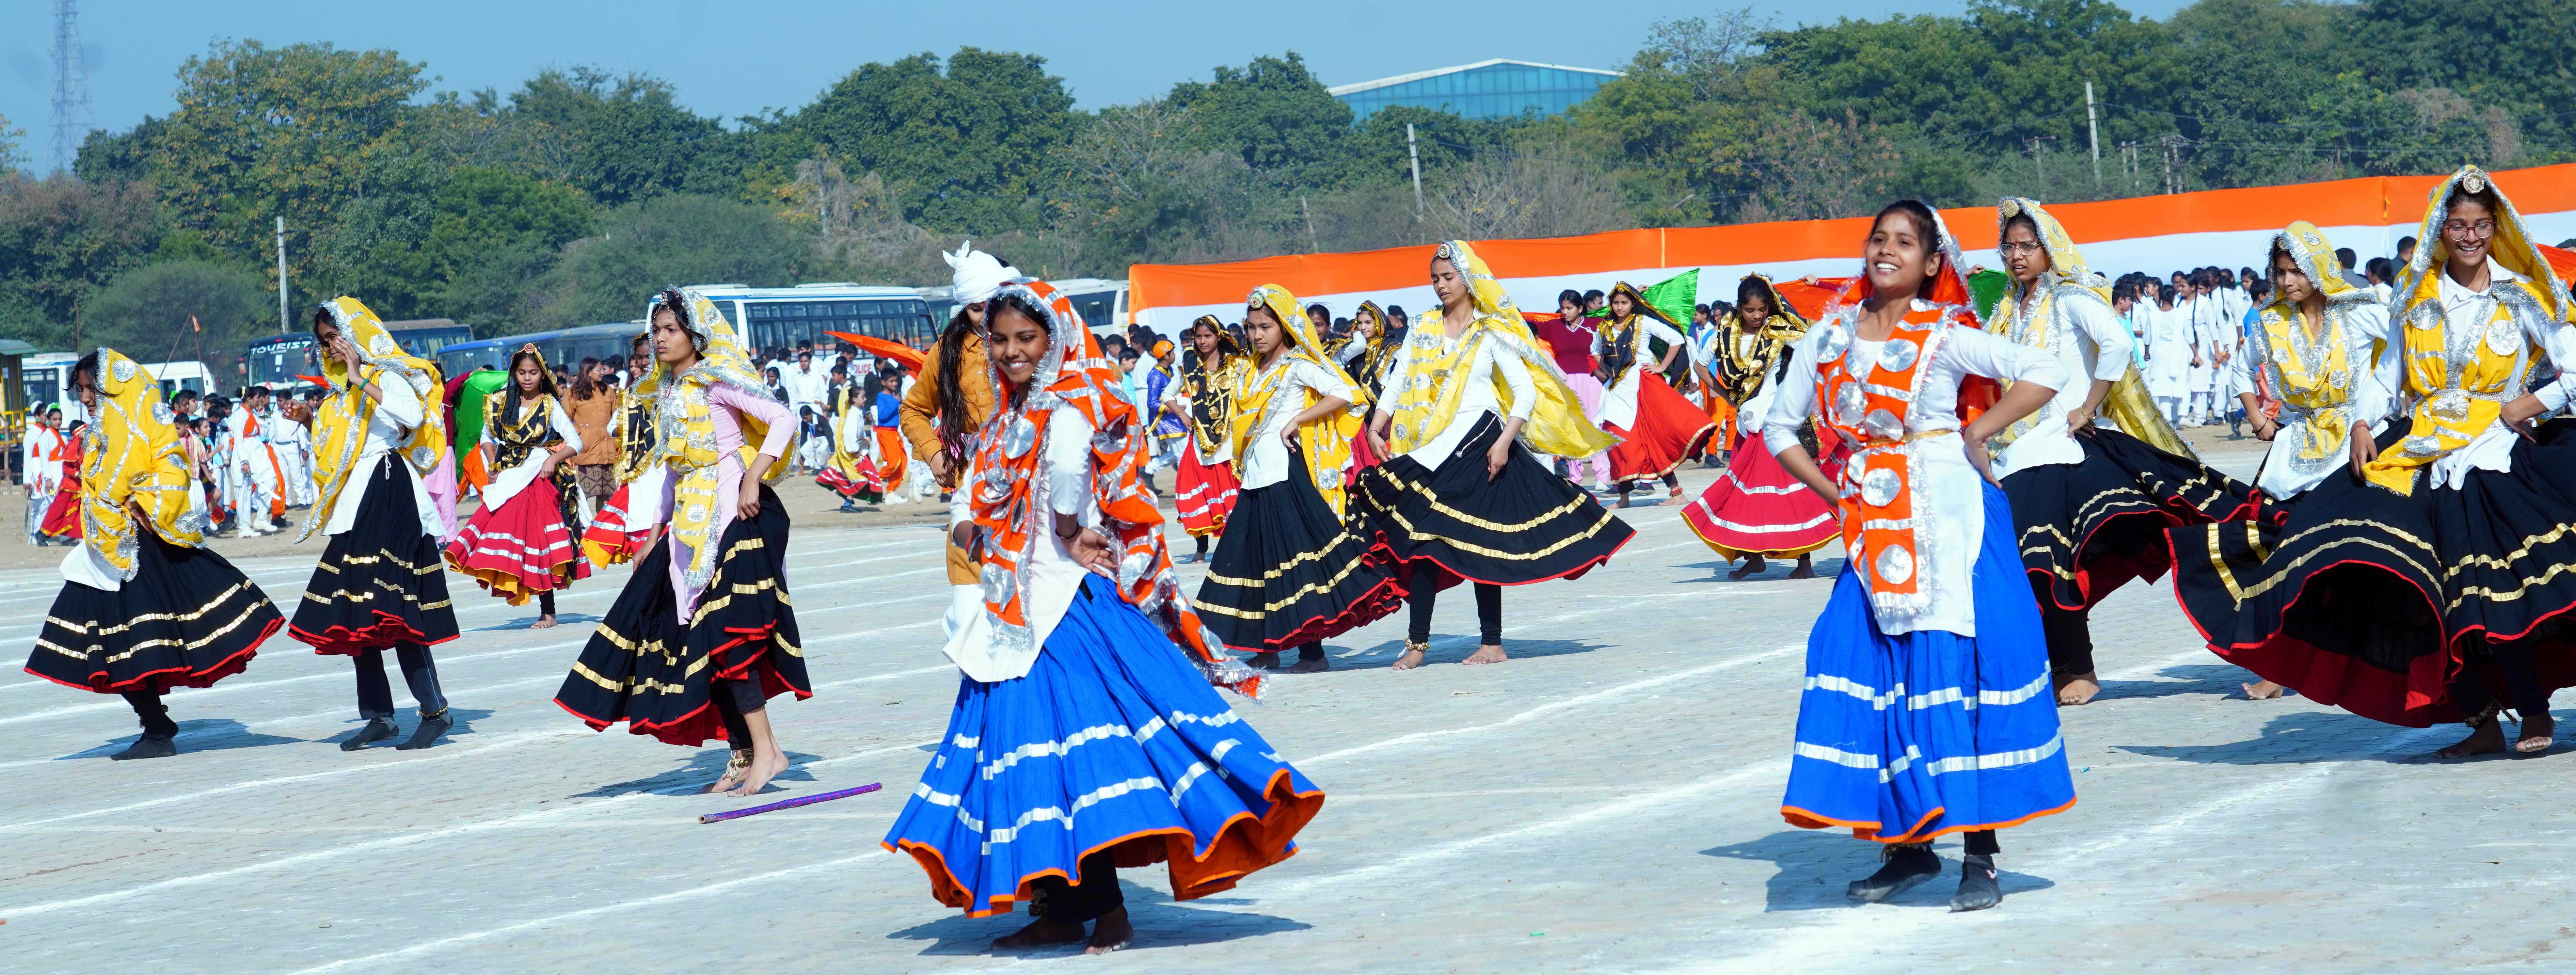
[[[2053,214],[2040,208],[2040,201],[2025,196],[2007,196],[1994,203],[1996,247],[2002,247],[2004,229],[2012,226],[2014,216],[2027,216],[2040,229],[2040,247],[2048,250],[2048,270],[2030,288],[2038,291],[2038,298],[2020,280],[2004,275],[2004,301],[1994,306],[1994,322],[1986,329],[2020,345],[2050,347],[2050,329],[2058,327],[2058,301],[2099,301],[2107,309],[2110,278],[2102,278],[2084,262],[2084,252],[2066,234],[2066,224],[2058,224]],[[2076,381],[2089,383],[2092,376],[2079,376]],[[2004,388],[2012,388],[2012,383],[2007,381]],[[2035,424],[2032,417],[2022,417],[1996,435],[1994,445],[2002,448],[2020,440]],[[2146,378],[2138,376],[2136,363],[2128,365],[2128,373],[2117,383],[2110,383],[2110,394],[2102,396],[2102,417],[2110,417],[2120,432],[2143,440],[2148,448],[2197,458],[2192,445],[2182,442],[2182,435],[2174,432],[2174,424],[2164,422],[2156,401],[2146,396]]]

